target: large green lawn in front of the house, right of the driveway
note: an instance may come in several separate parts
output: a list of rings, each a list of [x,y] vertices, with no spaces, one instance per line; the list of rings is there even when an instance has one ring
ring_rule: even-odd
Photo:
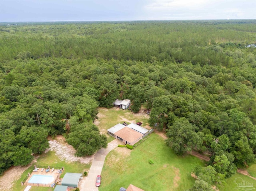
[[[190,175],[192,168],[198,164],[205,165],[204,161],[191,155],[176,156],[154,133],[130,155],[124,156],[116,150],[106,157],[100,191],[119,190],[130,184],[145,191],[184,191],[195,181]],[[149,159],[153,159],[154,164],[150,165]]]

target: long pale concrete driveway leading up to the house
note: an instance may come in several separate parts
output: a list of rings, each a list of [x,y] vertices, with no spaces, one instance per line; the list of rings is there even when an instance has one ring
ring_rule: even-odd
[[[92,161],[92,166],[90,167],[88,176],[84,177],[78,184],[80,191],[98,191],[98,187],[95,186],[96,177],[101,174],[106,155],[116,148],[118,143],[121,142],[115,139],[108,143],[108,147],[106,149],[101,148],[98,150]],[[102,177],[102,179],[104,180],[104,177]]]

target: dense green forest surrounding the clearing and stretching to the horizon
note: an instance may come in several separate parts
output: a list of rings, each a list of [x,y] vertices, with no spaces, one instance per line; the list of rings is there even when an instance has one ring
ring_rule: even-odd
[[[116,98],[150,110],[176,154],[210,154],[198,181],[255,163],[255,24],[1,23],[0,173],[32,161],[48,136],[64,134],[77,156],[106,148],[93,121]],[[209,169],[218,180],[203,177]]]

